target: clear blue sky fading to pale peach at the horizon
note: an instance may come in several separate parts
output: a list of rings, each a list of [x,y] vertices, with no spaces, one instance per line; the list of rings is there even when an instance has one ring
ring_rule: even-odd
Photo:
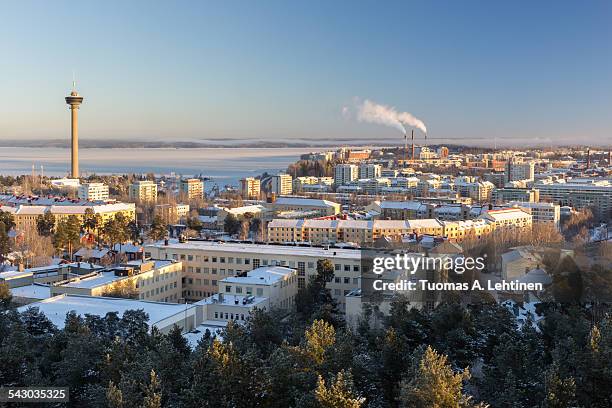
[[[358,98],[431,138],[612,144],[609,1],[8,1],[0,139],[355,138]],[[399,137],[399,136],[398,136]]]

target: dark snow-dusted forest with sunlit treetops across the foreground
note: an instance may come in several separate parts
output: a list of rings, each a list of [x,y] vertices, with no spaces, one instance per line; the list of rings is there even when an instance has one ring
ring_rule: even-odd
[[[298,293],[295,314],[257,310],[195,348],[139,310],[69,313],[60,330],[5,291],[0,385],[69,387],[71,407],[612,406],[605,308],[539,304],[538,324],[521,325],[495,302],[422,311],[398,297],[353,327],[328,278]]]

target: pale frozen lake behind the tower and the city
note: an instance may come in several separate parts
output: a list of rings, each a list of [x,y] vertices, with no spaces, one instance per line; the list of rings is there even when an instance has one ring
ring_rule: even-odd
[[[203,175],[220,186],[237,185],[242,177],[285,170],[300,155],[325,148],[202,148],[202,149],[80,149],[81,175],[155,173]],[[70,150],[61,148],[0,147],[0,174],[36,174],[40,166],[49,176],[65,176]]]

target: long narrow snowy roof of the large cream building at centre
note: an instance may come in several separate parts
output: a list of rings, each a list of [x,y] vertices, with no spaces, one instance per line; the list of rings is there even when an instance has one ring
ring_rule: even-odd
[[[244,254],[256,255],[296,255],[326,258],[361,259],[361,252],[358,250],[342,248],[319,248],[302,247],[292,245],[267,245],[267,244],[246,244],[239,242],[216,242],[216,241],[187,241],[170,242],[167,246],[163,242],[147,245],[146,248],[158,249],[182,249],[195,251],[215,251],[215,252],[240,252]]]

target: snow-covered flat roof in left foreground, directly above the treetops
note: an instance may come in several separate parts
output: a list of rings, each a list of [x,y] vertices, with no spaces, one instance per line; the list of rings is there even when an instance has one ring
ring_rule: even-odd
[[[186,305],[178,303],[147,302],[143,300],[119,299],[100,296],[58,295],[40,302],[22,306],[17,310],[24,312],[36,307],[41,313],[56,325],[63,328],[66,314],[74,311],[84,316],[94,315],[104,317],[107,313],[116,312],[120,316],[128,310],[143,310],[149,315],[149,323],[155,323],[170,316],[185,312]],[[187,307],[193,307],[187,305]]]

